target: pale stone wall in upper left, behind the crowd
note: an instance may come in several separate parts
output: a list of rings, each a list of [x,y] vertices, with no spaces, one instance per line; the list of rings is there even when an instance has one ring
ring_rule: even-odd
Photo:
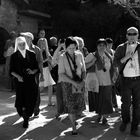
[[[37,33],[38,20],[30,16],[19,15],[12,0],[1,0],[0,27],[8,32],[15,30],[17,32],[30,31]]]

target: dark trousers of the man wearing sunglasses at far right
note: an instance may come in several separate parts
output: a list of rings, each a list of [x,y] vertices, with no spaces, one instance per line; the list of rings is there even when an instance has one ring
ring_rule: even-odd
[[[122,121],[126,124],[130,122],[132,105],[131,131],[136,131],[140,123],[140,78],[123,78],[122,84]]]

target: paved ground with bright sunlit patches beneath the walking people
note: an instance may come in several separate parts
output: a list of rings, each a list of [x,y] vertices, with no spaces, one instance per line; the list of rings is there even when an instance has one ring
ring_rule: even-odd
[[[67,114],[61,115],[59,120],[54,118],[56,107],[47,106],[46,93],[41,94],[41,113],[39,117],[32,117],[29,128],[22,128],[23,120],[19,118],[14,108],[15,94],[0,91],[0,140],[139,140],[129,135],[129,128],[125,133],[118,130],[120,114],[112,114],[109,125],[96,123],[96,114],[84,111],[85,117],[79,118],[78,136],[71,136],[71,126]],[[53,97],[55,102],[55,96]]]

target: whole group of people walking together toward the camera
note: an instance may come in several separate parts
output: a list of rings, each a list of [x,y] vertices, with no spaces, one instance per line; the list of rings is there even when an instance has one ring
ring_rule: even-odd
[[[50,38],[55,46],[51,50],[45,36],[40,37],[37,45],[34,45],[32,33],[20,33],[15,39],[14,52],[10,55],[10,75],[15,79],[15,107],[24,119],[23,127],[28,127],[33,113],[35,116],[39,114],[42,87],[48,86],[48,105],[52,105],[54,84],[57,85],[56,118],[62,113],[68,113],[72,135],[78,134],[76,119],[83,115],[86,94],[89,111],[98,114],[97,122],[107,124],[107,116],[113,113],[113,108],[118,111],[115,82],[119,78],[122,101],[120,131],[125,131],[131,121],[132,107],[131,134],[140,136],[138,33],[137,28],[128,28],[127,41],[115,51],[111,38],[100,38],[96,43],[96,51],[90,53],[83,38],[78,36],[69,36],[59,41],[56,37]],[[54,73],[56,79],[52,76]]]

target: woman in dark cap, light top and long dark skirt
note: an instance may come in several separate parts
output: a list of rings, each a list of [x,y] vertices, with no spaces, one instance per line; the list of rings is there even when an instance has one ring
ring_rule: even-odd
[[[99,84],[99,93],[97,97],[97,107],[95,111],[98,114],[98,122],[107,124],[107,116],[113,113],[112,107],[112,57],[106,52],[107,43],[103,38],[97,41],[97,50],[92,55],[89,65],[94,65],[95,73]],[[95,78],[94,78],[95,79]],[[98,88],[96,87],[96,90]],[[92,96],[94,97],[94,96]],[[92,99],[91,99],[92,100]],[[95,100],[95,99],[94,99]]]

